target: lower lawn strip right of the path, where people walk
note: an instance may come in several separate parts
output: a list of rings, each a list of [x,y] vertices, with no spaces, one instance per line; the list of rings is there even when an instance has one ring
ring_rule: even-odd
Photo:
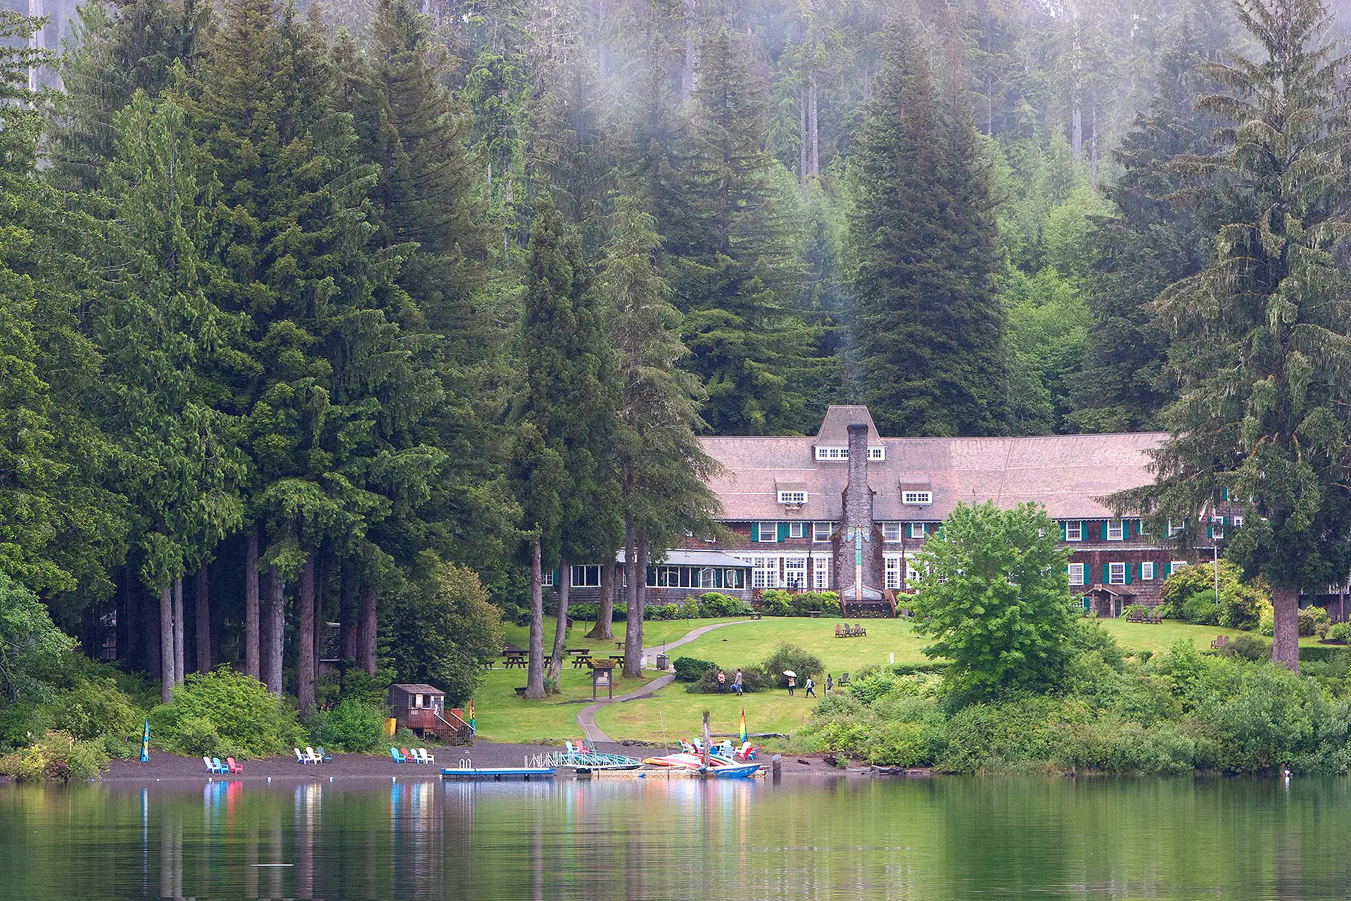
[[[842,639],[843,640],[843,639]],[[820,694],[820,689],[817,689]],[[747,732],[780,732],[792,735],[800,729],[816,708],[813,698],[804,698],[801,689],[797,697],[788,692],[755,692],[736,697],[727,694],[689,694],[684,682],[667,685],[653,697],[611,704],[596,715],[596,725],[615,739],[635,739],[661,742],[662,727],[671,747],[680,746],[680,739],[693,738],[703,731],[704,711],[709,712],[709,727],[713,732],[735,733],[740,725],[742,709],[746,709]],[[762,742],[757,744],[781,747],[782,742]]]

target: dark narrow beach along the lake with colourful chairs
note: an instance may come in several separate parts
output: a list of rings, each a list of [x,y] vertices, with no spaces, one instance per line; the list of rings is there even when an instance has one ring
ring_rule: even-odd
[[[108,765],[108,769],[95,778],[95,782],[146,781],[146,779],[243,779],[266,781],[269,778],[292,779],[357,779],[408,777],[408,778],[439,778],[440,767],[457,766],[461,759],[473,761],[474,766],[500,767],[520,766],[523,758],[558,751],[562,748],[546,744],[511,744],[503,742],[476,742],[473,746],[427,748],[436,762],[432,765],[394,763],[389,754],[334,754],[334,759],[326,763],[297,763],[292,756],[269,756],[251,761],[240,761],[245,767],[242,774],[224,775],[207,773],[201,758],[188,758],[165,751],[151,751],[150,761],[142,763],[138,758],[118,759]],[[617,742],[601,742],[596,750],[607,754],[623,754],[626,756],[654,756],[665,754],[662,748],[628,747]],[[825,754],[794,754],[784,755],[784,775],[804,774],[835,774],[835,775],[866,775],[867,769],[843,769],[825,762]],[[773,754],[765,754],[758,763],[766,769]],[[866,767],[866,765],[865,765]]]

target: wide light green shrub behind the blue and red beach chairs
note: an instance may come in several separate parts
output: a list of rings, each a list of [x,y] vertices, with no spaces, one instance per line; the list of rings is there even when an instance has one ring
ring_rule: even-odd
[[[258,679],[222,666],[212,673],[190,673],[174,688],[173,701],[150,713],[151,735],[168,750],[196,755],[215,728],[218,750],[234,756],[285,754],[301,743],[295,712]],[[205,751],[203,751],[205,754]]]

